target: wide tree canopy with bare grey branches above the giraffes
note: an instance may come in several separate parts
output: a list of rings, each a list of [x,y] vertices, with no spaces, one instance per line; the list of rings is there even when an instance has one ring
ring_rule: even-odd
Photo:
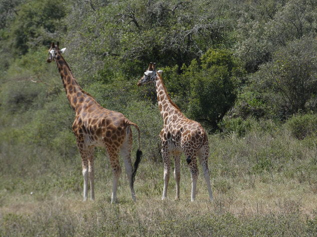
[[[183,63],[198,59],[208,45],[230,44],[226,35],[231,22],[220,7],[225,9],[210,1],[120,1],[79,16],[85,23],[69,40],[78,45],[73,40],[79,38],[80,57],[94,60],[98,69],[116,68],[131,77],[156,61],[177,65],[180,73]]]

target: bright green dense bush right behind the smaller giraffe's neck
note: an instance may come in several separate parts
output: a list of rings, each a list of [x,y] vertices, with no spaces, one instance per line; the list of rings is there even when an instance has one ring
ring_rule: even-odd
[[[209,49],[201,57],[201,69],[198,68],[195,60],[188,68],[191,73],[188,111],[193,118],[206,120],[215,127],[234,103],[242,70],[232,52],[226,49]]]

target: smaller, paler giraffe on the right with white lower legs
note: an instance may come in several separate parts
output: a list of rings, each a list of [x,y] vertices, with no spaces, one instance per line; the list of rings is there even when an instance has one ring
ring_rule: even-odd
[[[175,164],[176,199],[179,198],[180,156],[184,152],[191,172],[191,200],[194,201],[196,198],[196,184],[199,173],[196,161],[197,154],[207,183],[209,198],[212,200],[208,169],[209,146],[206,132],[200,123],[185,117],[176,104],[172,102],[164,86],[161,77],[162,72],[162,70],[155,70],[155,63],[150,63],[149,68],[138,82],[138,86],[149,82],[155,83],[158,105],[164,120],[164,126],[160,132],[164,161],[164,189],[162,199],[165,199],[167,196],[171,155],[174,156]]]

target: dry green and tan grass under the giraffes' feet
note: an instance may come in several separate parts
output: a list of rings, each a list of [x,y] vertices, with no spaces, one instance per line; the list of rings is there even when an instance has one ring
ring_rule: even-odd
[[[119,202],[110,204],[112,174],[103,151],[96,152],[96,200],[83,202],[79,154],[70,160],[44,147],[32,153],[29,146],[8,160],[4,154],[14,150],[7,147],[2,151],[0,235],[315,235],[315,140],[298,140],[282,125],[267,129],[260,123],[244,137],[210,135],[212,202],[200,167],[196,201],[190,201],[184,157],[179,200],[174,200],[172,172],[168,198],[161,200],[163,164],[145,152],[135,182],[138,200],[132,201],[123,169]]]

